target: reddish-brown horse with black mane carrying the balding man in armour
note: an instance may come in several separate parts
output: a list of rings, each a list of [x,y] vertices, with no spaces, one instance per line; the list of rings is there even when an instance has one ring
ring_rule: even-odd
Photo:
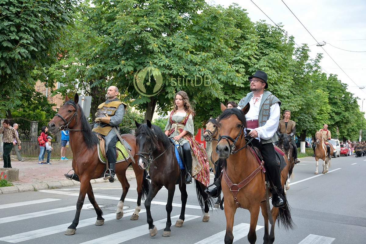
[[[56,116],[48,123],[48,131],[52,134],[56,134],[63,129],[68,129],[70,131],[70,147],[73,154],[72,169],[74,169],[75,174],[79,176],[80,180],[80,191],[78,202],[76,203],[75,218],[72,221],[72,224],[67,228],[65,232],[66,235],[75,234],[86,194],[97,213],[97,221],[95,225],[104,224],[104,218],[102,217],[103,212],[94,198],[90,180],[102,177],[105,172],[106,165],[98,159],[97,144],[99,143],[99,139],[97,138],[96,133],[91,131],[91,127],[81,106],[78,104],[78,101],[78,94],[75,94],[74,101],[69,100],[66,96],[65,103],[59,108],[59,113],[57,113]],[[132,147],[131,154],[135,155],[138,151],[135,137],[130,134],[124,134],[121,136]],[[137,161],[138,156],[135,155],[134,159]],[[127,162],[124,161],[116,164],[115,172],[123,187],[123,194],[117,205],[116,219],[120,219],[123,216],[123,202],[127,195],[128,188],[130,187],[126,178],[126,170],[130,164],[130,158]],[[132,164],[132,168],[136,174],[138,198],[137,206],[131,220],[136,220],[138,219],[139,212],[141,210],[141,198],[148,194],[149,183],[145,179],[146,172],[143,169],[140,169],[137,164]]]

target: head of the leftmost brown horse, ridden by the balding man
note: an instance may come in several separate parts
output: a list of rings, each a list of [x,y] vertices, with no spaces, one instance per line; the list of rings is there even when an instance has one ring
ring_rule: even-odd
[[[58,113],[48,123],[48,130],[52,134],[56,134],[59,130],[71,129],[78,120],[79,95],[75,93],[74,100],[69,100],[66,95],[64,104],[59,108]]]

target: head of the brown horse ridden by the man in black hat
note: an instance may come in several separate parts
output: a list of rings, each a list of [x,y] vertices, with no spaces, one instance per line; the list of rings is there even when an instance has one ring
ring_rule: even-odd
[[[224,107],[221,105],[221,109]],[[235,153],[236,143],[242,146],[245,145],[244,129],[247,127],[245,115],[249,108],[250,105],[248,103],[241,110],[237,108],[224,109],[223,113],[221,113],[218,120],[220,136],[215,149],[220,158],[228,158],[230,154]]]

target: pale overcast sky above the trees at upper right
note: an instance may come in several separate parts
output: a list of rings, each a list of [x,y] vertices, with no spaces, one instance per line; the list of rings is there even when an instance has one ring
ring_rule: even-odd
[[[270,25],[275,25],[273,22],[282,23],[288,35],[295,37],[296,44],[301,46],[306,43],[310,47],[311,58],[323,53],[320,63],[323,72],[338,75],[338,79],[348,85],[348,91],[359,98],[359,109],[362,110],[363,101],[363,112],[366,111],[365,0],[207,1],[224,7],[237,3],[247,10],[253,22],[265,20]],[[316,46],[317,42],[323,41],[326,42],[325,46]]]

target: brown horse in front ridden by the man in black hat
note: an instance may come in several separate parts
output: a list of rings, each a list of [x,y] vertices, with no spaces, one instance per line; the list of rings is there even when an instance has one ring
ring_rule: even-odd
[[[221,110],[223,110],[221,108]],[[275,222],[277,218],[285,228],[292,227],[291,213],[288,204],[284,207],[272,207],[272,220],[270,233],[268,232],[269,216],[266,207],[265,174],[261,170],[262,165],[249,149],[244,137],[246,128],[245,115],[249,111],[249,104],[243,109],[225,109],[219,117],[220,138],[216,151],[220,158],[226,159],[225,171],[221,179],[224,193],[224,210],[226,217],[225,243],[232,243],[234,236],[232,229],[234,215],[238,207],[248,209],[250,212],[250,228],[248,240],[255,243],[259,207],[264,217],[264,243],[273,243],[275,240]],[[284,157],[287,162],[287,158]],[[226,174],[226,176],[225,176]],[[281,184],[287,180],[288,166],[281,172]],[[230,185],[230,186],[229,186]],[[284,202],[286,201],[283,193]]]

